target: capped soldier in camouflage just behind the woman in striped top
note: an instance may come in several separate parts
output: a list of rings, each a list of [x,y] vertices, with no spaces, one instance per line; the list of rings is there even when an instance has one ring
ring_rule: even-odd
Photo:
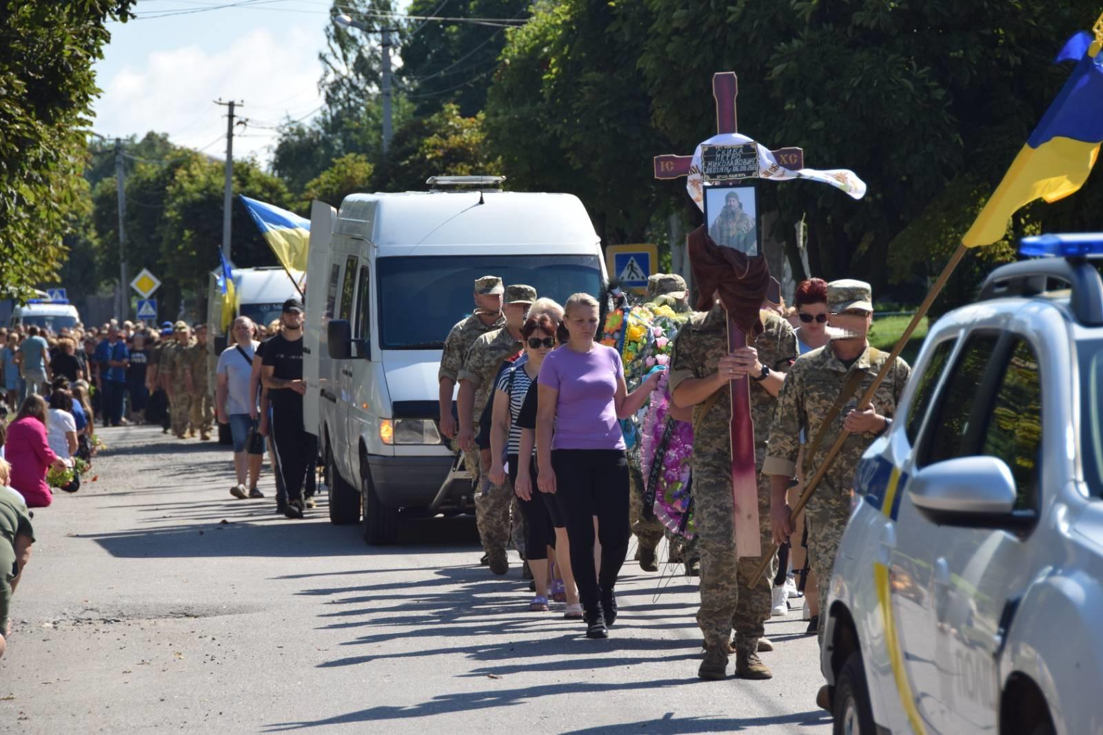
[[[531,285],[511,285],[505,289],[505,326],[480,336],[468,349],[460,369],[460,393],[457,399],[460,414],[460,446],[464,454],[474,453],[475,425],[486,407],[494,378],[502,360],[521,353],[521,327],[528,307],[536,301],[536,289]],[[480,451],[479,469],[482,477],[490,472],[490,450]],[[513,488],[480,482],[475,490],[475,522],[486,562],[494,574],[505,574],[510,569],[505,545],[510,540],[510,506]]]

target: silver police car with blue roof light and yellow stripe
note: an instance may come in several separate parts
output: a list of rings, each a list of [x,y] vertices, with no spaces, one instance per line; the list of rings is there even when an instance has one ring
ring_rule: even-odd
[[[836,733],[1103,733],[1103,234],[1020,252],[858,467],[821,616]]]

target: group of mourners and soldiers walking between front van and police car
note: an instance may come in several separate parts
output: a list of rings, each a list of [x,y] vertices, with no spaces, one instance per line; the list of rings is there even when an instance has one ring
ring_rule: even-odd
[[[475,280],[473,295],[473,313],[445,342],[439,423],[475,478],[482,563],[507,573],[512,542],[535,593],[529,610],[561,603],[566,618],[583,621],[587,637],[607,637],[634,533],[644,571],[658,570],[656,547],[666,537],[672,559],[700,576],[700,678],[726,678],[732,653],[738,677],[772,677],[759,657],[773,648],[764,623],[788,612],[788,598],[801,594],[796,587],[806,595],[808,633],[823,635],[817,601],[850,508],[855,465],[890,425],[910,375],[897,358],[871,407],[858,410],[857,397],[888,358],[867,339],[874,315],[867,283],[813,278],[797,287],[791,307],[780,294],[768,298],[747,346],[736,349],[728,346],[720,294],[700,294],[690,311],[678,275],[660,273],[649,282],[643,309],[651,311],[642,314],[676,313],[670,322],[676,334],[656,326],[658,337],[646,322],[630,320],[638,317],[619,291],[604,304],[576,293],[560,306],[529,285],[505,287],[486,275]],[[628,343],[619,329],[629,331]],[[650,339],[654,349],[631,339]],[[644,355],[645,365],[633,365]],[[759,544],[771,554],[778,549],[771,573],[757,581],[761,558],[740,556],[736,545],[733,385],[750,392]],[[649,426],[663,441],[641,444],[640,417],[653,410],[649,404],[663,407],[658,430]],[[794,528],[791,505],[805,471],[823,462],[839,432],[847,434],[839,461]],[[677,456],[673,434],[692,444],[685,466],[674,467],[675,479],[684,473],[686,482],[676,486],[690,500],[681,506],[679,525],[664,526],[654,512],[655,485]],[[826,705],[826,690],[817,701]]]

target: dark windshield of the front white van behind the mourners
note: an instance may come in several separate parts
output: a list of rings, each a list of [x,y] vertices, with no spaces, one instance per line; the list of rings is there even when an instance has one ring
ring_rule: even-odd
[[[379,258],[379,347],[440,349],[452,325],[474,310],[474,282],[499,275],[560,304],[572,293],[598,295],[598,256],[428,256]]]

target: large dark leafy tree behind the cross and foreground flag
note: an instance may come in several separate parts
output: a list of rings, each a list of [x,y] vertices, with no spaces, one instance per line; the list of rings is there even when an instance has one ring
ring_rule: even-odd
[[[804,182],[765,191],[781,221],[806,214],[815,274],[875,289],[889,273],[922,282],[930,245],[960,241],[1063,83],[1050,61],[1060,43],[1097,13],[1086,0],[646,4],[641,68],[658,128],[679,150],[703,140],[711,74],[736,71],[741,131],[869,184],[860,202]]]

